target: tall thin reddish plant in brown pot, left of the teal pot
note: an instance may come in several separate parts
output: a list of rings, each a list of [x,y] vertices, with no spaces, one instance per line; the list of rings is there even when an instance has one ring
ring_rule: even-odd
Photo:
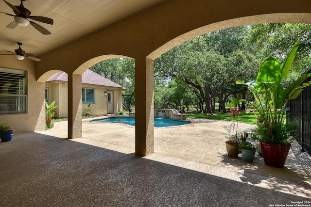
[[[240,137],[238,136],[238,121],[239,121],[239,114],[242,112],[242,110],[237,109],[236,105],[239,103],[238,99],[233,99],[233,101],[230,103],[230,107],[234,107],[233,109],[230,109],[230,113],[233,116],[233,123],[230,127],[228,127],[228,134],[232,133],[227,136],[228,141],[225,142],[225,148],[227,150],[229,157],[238,157],[239,156],[239,143],[240,143]]]

